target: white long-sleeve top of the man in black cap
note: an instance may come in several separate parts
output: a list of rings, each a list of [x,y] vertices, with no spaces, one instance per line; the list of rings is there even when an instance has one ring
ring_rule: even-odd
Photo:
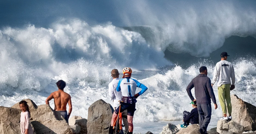
[[[230,78],[232,80],[232,83],[230,81]],[[227,60],[221,60],[218,63],[216,63],[216,66],[214,68],[213,78],[212,78],[212,84],[217,82],[217,80],[218,80],[218,83],[217,83],[218,87],[223,84],[235,85],[234,67]]]

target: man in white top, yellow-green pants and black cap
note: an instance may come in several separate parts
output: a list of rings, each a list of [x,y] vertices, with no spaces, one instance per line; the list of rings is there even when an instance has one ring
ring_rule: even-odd
[[[230,90],[233,90],[235,88],[235,72],[233,65],[227,61],[228,56],[229,55],[227,55],[227,52],[221,53],[221,61],[216,63],[212,78],[212,86],[218,80],[218,97],[223,111],[223,117],[220,120],[232,120]],[[230,81],[230,78],[232,82]],[[227,117],[227,109],[229,117]]]

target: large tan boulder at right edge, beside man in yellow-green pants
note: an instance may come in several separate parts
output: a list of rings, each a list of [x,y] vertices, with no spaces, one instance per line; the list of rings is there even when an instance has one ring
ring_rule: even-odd
[[[236,95],[231,95],[232,121],[244,126],[245,131],[256,130],[256,107]]]

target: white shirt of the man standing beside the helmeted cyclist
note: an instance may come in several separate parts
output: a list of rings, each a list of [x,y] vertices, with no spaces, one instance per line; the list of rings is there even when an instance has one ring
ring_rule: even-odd
[[[122,93],[119,91],[116,91],[116,87],[118,85],[119,78],[113,79],[111,83],[108,84],[108,94],[114,102],[114,107],[117,107],[119,104],[119,100],[122,100]]]

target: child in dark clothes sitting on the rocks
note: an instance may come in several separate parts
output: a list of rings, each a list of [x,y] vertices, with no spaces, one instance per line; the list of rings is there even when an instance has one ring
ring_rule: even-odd
[[[192,104],[193,109],[191,110],[191,112],[183,111],[184,124],[180,125],[181,128],[186,128],[189,123],[199,124],[199,114],[196,101],[192,101],[190,104]]]

